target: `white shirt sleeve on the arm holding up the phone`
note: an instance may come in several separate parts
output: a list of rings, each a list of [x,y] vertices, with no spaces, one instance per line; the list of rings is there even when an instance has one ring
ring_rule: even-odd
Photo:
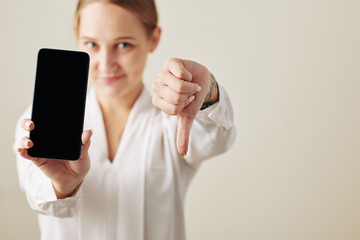
[[[31,107],[17,122],[13,145],[20,188],[25,192],[29,205],[34,211],[60,218],[72,217],[77,211],[81,188],[73,197],[57,199],[50,178],[30,160],[22,158],[17,152],[17,148],[20,147],[20,140],[24,136],[28,136],[28,132],[20,127],[20,122],[23,118],[29,118],[30,109]]]

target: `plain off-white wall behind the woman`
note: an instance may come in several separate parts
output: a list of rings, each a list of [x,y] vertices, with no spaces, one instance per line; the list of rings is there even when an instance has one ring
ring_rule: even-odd
[[[200,168],[190,240],[360,239],[360,1],[158,0],[170,57],[206,65],[228,91],[237,140]],[[76,49],[75,1],[0,2],[0,239],[39,239],[12,152],[37,51]]]

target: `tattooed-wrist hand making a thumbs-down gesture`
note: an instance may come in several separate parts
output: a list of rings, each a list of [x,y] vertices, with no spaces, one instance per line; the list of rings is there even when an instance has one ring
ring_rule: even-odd
[[[196,115],[200,109],[219,100],[218,85],[205,66],[172,58],[165,62],[152,87],[153,104],[165,113],[177,116],[176,146],[184,157]]]

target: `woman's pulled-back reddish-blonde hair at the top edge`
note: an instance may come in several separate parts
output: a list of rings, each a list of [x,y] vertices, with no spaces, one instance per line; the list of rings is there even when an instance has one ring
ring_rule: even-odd
[[[78,0],[74,19],[74,31],[76,36],[79,34],[81,10],[93,2],[112,3],[129,10],[141,21],[148,36],[150,36],[157,27],[158,14],[155,0]]]

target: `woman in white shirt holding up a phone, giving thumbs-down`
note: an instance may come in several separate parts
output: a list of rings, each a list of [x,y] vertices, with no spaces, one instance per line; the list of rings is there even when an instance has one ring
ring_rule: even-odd
[[[185,239],[187,186],[235,138],[225,91],[204,66],[170,59],[151,103],[142,74],[161,35],[153,0],[80,0],[75,32],[93,83],[80,159],[27,154],[30,107],[16,131],[20,185],[42,239]]]

